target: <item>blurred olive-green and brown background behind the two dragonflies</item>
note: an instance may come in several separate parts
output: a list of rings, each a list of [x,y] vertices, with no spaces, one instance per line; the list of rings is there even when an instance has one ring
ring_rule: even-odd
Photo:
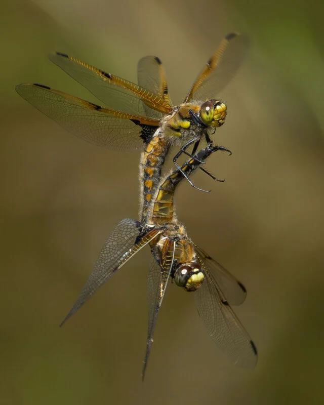
[[[323,89],[321,2],[233,0],[2,2],[0,404],[322,403]],[[173,102],[230,31],[251,52],[220,97],[226,125],[177,213],[189,235],[246,285],[236,308],[252,372],[214,347],[175,285],[161,308],[146,380],[148,249],[60,329],[115,224],[138,215],[138,153],[80,141],[14,91],[37,82],[96,100],[47,60],[76,56],[136,80],[157,55]]]

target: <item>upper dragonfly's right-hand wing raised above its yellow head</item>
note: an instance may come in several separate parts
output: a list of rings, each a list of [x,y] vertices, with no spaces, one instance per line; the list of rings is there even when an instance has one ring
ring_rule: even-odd
[[[249,44],[246,35],[236,32],[227,34],[196,78],[184,102],[217,98],[244,61]]]

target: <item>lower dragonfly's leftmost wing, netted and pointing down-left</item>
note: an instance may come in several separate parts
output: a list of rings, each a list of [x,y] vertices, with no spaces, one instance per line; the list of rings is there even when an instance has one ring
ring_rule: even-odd
[[[76,312],[121,266],[158,235],[156,229],[142,235],[142,224],[134,219],[123,219],[105,242],[86,285],[63,323]]]

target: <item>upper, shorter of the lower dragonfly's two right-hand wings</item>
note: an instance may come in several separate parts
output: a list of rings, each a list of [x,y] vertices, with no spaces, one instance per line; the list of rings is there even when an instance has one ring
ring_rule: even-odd
[[[219,290],[230,305],[242,304],[247,297],[247,290],[244,285],[203,249],[199,248],[194,242],[192,244],[198,255],[198,260],[202,262],[204,268],[211,270]]]

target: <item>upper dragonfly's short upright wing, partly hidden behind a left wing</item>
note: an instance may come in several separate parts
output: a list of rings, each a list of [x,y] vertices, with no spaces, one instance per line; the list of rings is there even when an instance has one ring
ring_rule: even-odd
[[[172,105],[165,70],[161,60],[157,56],[144,56],[137,64],[137,83],[139,86],[157,94],[169,105]],[[153,118],[161,118],[163,114],[153,111],[144,104],[146,115]]]

